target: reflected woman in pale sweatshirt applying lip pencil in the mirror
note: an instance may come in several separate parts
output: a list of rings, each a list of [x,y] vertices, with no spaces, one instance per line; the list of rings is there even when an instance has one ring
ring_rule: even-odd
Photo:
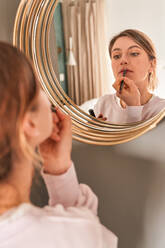
[[[138,30],[124,30],[110,41],[109,54],[116,93],[98,100],[96,116],[121,124],[158,114],[165,107],[165,99],[152,93],[157,85],[157,56],[152,41]]]

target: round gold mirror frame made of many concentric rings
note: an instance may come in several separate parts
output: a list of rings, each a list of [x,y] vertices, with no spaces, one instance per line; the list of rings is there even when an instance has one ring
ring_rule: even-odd
[[[89,116],[63,91],[54,73],[49,52],[49,33],[58,0],[22,0],[17,10],[13,44],[30,58],[50,101],[72,118],[73,138],[88,144],[114,145],[130,141],[154,128],[165,110],[153,118],[114,125]]]

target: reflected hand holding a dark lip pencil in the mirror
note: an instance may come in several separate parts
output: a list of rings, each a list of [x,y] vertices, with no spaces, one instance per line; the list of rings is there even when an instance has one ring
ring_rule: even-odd
[[[124,86],[120,90],[121,81],[124,80]],[[113,84],[116,95],[123,100],[127,106],[140,106],[140,91],[133,80],[127,77],[120,77]]]

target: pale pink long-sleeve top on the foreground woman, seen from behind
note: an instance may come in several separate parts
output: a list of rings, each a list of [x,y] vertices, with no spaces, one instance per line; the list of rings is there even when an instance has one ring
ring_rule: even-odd
[[[74,166],[42,173],[49,206],[21,204],[0,217],[0,248],[116,248],[116,236],[97,217],[97,197],[79,184]]]

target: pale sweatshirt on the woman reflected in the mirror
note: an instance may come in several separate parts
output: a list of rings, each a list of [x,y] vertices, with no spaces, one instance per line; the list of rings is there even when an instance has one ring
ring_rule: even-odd
[[[96,117],[102,114],[112,124],[124,124],[147,120],[164,108],[165,99],[155,95],[145,105],[122,108],[116,94],[110,94],[99,98],[94,106],[94,112]]]

